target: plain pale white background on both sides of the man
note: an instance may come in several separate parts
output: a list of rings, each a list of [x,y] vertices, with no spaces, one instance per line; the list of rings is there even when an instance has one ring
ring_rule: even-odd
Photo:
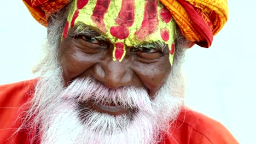
[[[240,143],[256,143],[256,1],[229,1],[230,17],[210,49],[187,51],[185,104],[223,123]],[[1,2],[0,84],[35,77],[46,28],[19,1]]]

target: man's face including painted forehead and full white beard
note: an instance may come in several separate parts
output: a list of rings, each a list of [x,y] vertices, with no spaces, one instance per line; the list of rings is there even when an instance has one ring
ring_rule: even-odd
[[[59,61],[49,55],[30,110],[42,142],[158,142],[182,105],[170,13],[156,0],[79,0],[60,49],[56,33]]]

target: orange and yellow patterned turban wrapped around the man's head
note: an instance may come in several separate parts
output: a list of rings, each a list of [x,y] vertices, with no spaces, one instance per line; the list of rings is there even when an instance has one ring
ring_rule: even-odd
[[[34,19],[47,26],[48,17],[70,0],[22,1]],[[160,2],[170,11],[184,37],[202,47],[211,46],[213,35],[216,35],[228,20],[226,0],[160,0]]]

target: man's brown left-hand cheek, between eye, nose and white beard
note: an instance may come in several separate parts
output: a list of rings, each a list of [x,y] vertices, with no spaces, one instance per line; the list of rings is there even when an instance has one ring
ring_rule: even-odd
[[[84,53],[77,47],[68,48],[61,55],[61,67],[65,83],[75,77],[86,74],[86,71],[97,63],[98,56]]]

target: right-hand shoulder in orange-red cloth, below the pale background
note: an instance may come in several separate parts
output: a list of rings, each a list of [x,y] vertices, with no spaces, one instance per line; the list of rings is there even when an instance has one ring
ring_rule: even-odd
[[[188,107],[182,108],[170,133],[172,143],[238,143],[224,125]]]

